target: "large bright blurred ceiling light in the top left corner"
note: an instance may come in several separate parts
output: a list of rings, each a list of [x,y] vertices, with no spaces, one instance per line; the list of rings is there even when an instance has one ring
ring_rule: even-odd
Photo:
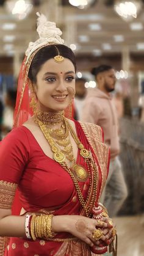
[[[5,2],[7,10],[18,18],[23,20],[31,12],[33,5],[30,0],[8,0]]]

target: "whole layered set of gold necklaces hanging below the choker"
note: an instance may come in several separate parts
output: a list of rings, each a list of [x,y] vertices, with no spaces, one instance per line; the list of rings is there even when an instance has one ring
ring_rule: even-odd
[[[57,163],[59,163],[63,167],[63,169],[65,169],[68,172],[68,174],[70,174],[71,178],[73,179],[74,185],[76,187],[77,195],[79,197],[79,202],[84,208],[86,215],[89,216],[90,210],[92,210],[96,200],[96,190],[97,190],[96,188],[97,188],[97,179],[98,179],[98,172],[97,172],[95,163],[93,161],[92,154],[90,153],[90,151],[85,149],[84,145],[81,143],[81,141],[79,141],[79,138],[77,137],[76,133],[74,132],[72,126],[70,125],[67,119],[65,118],[63,119],[63,123],[60,129],[48,128],[45,123],[41,122],[41,120],[38,119],[37,115],[35,115],[35,122],[38,124],[46,140],[49,142],[49,145],[53,152],[54,160]],[[70,131],[71,135],[73,136],[73,139],[80,150],[80,155],[85,159],[88,172],[87,170],[84,169],[84,167],[76,164],[76,162],[74,161],[74,157],[72,157],[73,153],[71,154],[71,161],[74,161],[74,165],[72,167],[68,167],[65,161],[65,158],[67,158],[68,156],[68,153],[65,153],[65,152],[71,153],[71,150],[68,151],[68,148],[67,150],[63,150],[59,148],[59,145],[62,147],[68,147],[69,145],[71,145],[69,143],[70,137],[68,136],[68,131]],[[54,139],[56,139],[56,142],[58,143],[56,143]],[[63,145],[63,141],[65,145]],[[73,148],[72,148],[72,152],[73,152]],[[90,169],[92,169],[93,179],[90,175],[91,174]],[[90,180],[90,187],[88,189],[87,200],[85,201],[84,197],[82,196],[81,188],[79,186],[78,181],[85,182],[88,179],[88,177]],[[90,199],[90,202],[88,202],[89,199]]]

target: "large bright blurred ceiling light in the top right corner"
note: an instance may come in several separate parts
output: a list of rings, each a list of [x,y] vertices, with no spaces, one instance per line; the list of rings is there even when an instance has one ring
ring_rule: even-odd
[[[121,18],[129,21],[132,18],[137,18],[137,13],[140,11],[141,7],[142,1],[140,0],[117,0],[114,9],[118,13],[118,15],[121,16]]]

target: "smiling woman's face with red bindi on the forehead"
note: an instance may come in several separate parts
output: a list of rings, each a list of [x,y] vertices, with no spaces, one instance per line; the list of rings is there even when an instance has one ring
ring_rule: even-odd
[[[41,110],[59,112],[67,108],[75,92],[73,63],[67,58],[62,63],[47,60],[37,73],[34,88]]]

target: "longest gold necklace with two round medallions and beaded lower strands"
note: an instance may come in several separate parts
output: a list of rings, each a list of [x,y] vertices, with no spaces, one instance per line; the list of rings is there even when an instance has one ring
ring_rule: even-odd
[[[87,167],[88,167],[89,177],[90,177],[90,167],[92,168],[92,171],[93,171],[93,181],[92,181],[92,178],[90,177],[90,187],[88,189],[88,196],[87,196],[87,200],[85,202],[84,197],[81,192],[81,188],[79,187],[79,183],[77,181],[76,172],[73,172],[73,169],[71,169],[70,167],[67,166],[67,163],[65,162],[65,155],[59,150],[58,147],[56,147],[55,142],[53,141],[52,137],[49,135],[46,125],[43,124],[43,122],[41,122],[40,120],[38,120],[37,117],[35,117],[35,122],[38,124],[42,133],[46,137],[46,140],[49,142],[51,150],[54,153],[54,155],[53,155],[54,160],[57,163],[59,163],[63,167],[63,169],[65,169],[68,172],[68,174],[70,174],[71,178],[73,179],[74,185],[76,187],[77,195],[79,197],[79,202],[81,203],[82,207],[84,208],[86,216],[89,216],[90,211],[92,210],[92,207],[96,200],[96,188],[97,188],[97,179],[98,179],[97,178],[98,172],[96,170],[96,166],[92,159],[91,153],[87,149],[84,148],[84,145],[79,141],[79,139],[76,136],[76,133],[74,133],[73,128],[67,122],[68,128],[70,128],[71,135],[73,136],[74,141],[76,142],[77,146],[80,149],[80,154],[83,158],[85,158],[85,161],[86,161]],[[77,165],[77,167],[78,167],[78,165]],[[86,170],[84,168],[82,170],[82,168],[81,168],[80,172],[77,172],[78,174],[80,173],[80,177],[84,177],[85,172],[86,172]],[[92,182],[93,182],[93,184],[92,184]],[[93,186],[93,189],[91,192],[92,186]],[[88,202],[89,198],[90,198],[90,202]]]

